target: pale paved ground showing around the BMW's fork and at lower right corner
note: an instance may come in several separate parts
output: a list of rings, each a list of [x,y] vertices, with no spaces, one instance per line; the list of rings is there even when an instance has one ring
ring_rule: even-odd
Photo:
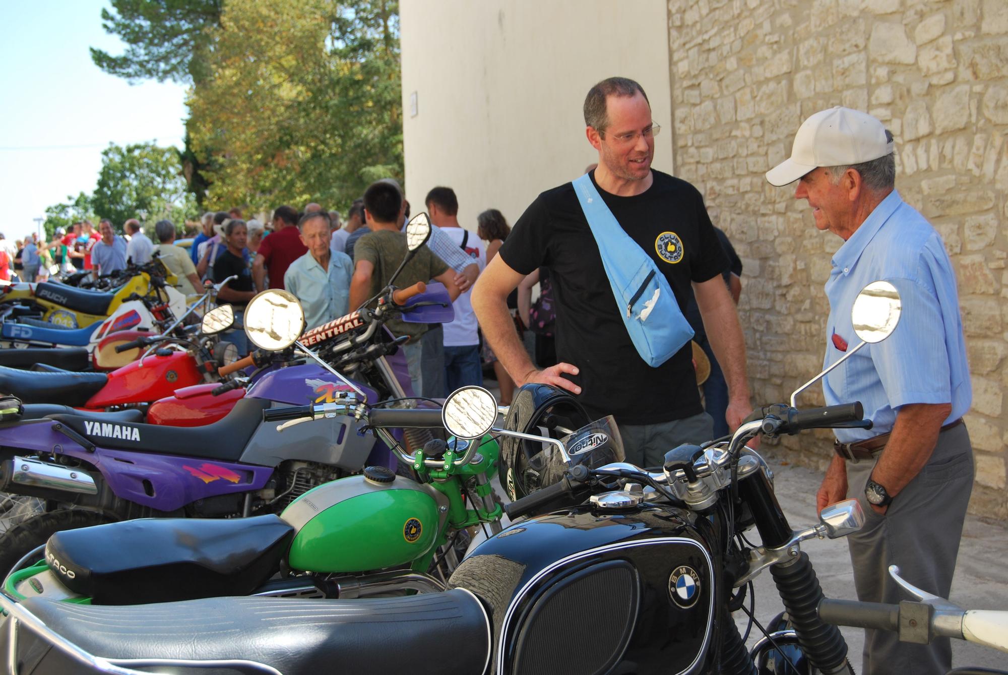
[[[498,394],[495,382],[488,381],[486,386],[495,395]],[[776,448],[774,450],[776,451]],[[803,529],[817,521],[815,492],[818,490],[822,477],[808,468],[788,465],[781,456],[766,457],[775,475],[774,488],[777,500],[791,527]],[[498,488],[498,494],[504,493]],[[759,535],[755,529],[747,533],[747,536],[751,541],[758,543]],[[802,550],[808,553],[827,596],[856,598],[851,560],[847,543],[843,539],[809,540],[802,544]],[[976,517],[968,517],[964,526],[959,563],[950,599],[964,609],[1008,610],[1008,564],[1006,563],[1008,563],[1008,528],[1003,524],[988,524]],[[765,625],[783,611],[783,605],[769,572],[758,576],[754,586],[756,618]],[[741,617],[739,624],[744,631],[742,620],[745,620],[745,617],[742,613],[737,613],[737,617]],[[850,649],[851,662],[860,672],[864,632],[848,628],[842,629],[842,632]],[[755,627],[753,634],[749,639],[750,646],[762,637]],[[953,663],[957,667],[976,666],[1008,670],[1008,654],[964,641],[953,641]]]

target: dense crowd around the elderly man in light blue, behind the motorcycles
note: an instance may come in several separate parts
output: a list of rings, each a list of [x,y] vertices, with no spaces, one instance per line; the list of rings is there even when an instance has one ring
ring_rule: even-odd
[[[451,187],[432,188],[424,207],[432,224],[430,240],[403,269],[396,285],[444,284],[454,302],[455,320],[426,324],[393,317],[386,324],[394,335],[410,339],[403,352],[413,391],[439,398],[465,385],[481,385],[486,367],[494,369],[502,402],[508,404],[514,384],[495,364],[469,295],[510,228],[499,211],[488,210],[480,215],[476,232],[465,229]],[[266,228],[256,220],[243,220],[240,209],[207,213],[187,256],[166,249],[174,235],[170,223],[163,222],[163,229],[159,223],[155,229],[161,259],[180,280],[222,283],[235,277],[220,289],[218,301],[230,303],[236,317],[235,327],[223,339],[244,354],[248,350],[241,329],[244,309],[262,290],[292,293],[304,310],[306,328],[343,316],[376,295],[405,257],[404,227],[409,217],[401,187],[388,178],[370,185],[351,205],[346,220],[316,202],[300,211],[276,207]],[[512,307],[516,310],[517,300]],[[521,321],[531,324],[527,316]],[[547,337],[549,329],[540,332]]]

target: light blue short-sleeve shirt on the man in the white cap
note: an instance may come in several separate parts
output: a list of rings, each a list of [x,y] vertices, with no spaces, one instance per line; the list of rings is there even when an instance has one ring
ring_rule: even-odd
[[[836,429],[837,438],[847,443],[891,431],[899,407],[910,403],[952,403],[943,423],[966,414],[973,391],[956,273],[934,228],[893,190],[831,262],[824,367],[861,342],[851,308],[862,288],[888,281],[902,301],[888,339],[866,345],[823,380],[827,405],[861,401],[865,419],[874,423]]]

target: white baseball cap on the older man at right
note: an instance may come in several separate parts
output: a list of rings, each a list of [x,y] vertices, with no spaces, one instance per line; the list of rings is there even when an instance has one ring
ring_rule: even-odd
[[[893,151],[885,126],[867,113],[837,106],[815,113],[794,134],[791,156],[766,172],[771,185],[786,185],[820,166],[849,166]]]

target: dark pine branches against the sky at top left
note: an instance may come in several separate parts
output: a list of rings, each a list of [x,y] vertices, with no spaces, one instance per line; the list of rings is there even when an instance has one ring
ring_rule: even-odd
[[[112,0],[114,12],[102,9],[102,27],[126,51],[113,56],[92,47],[91,58],[129,81],[200,82],[223,6],[224,0]]]

